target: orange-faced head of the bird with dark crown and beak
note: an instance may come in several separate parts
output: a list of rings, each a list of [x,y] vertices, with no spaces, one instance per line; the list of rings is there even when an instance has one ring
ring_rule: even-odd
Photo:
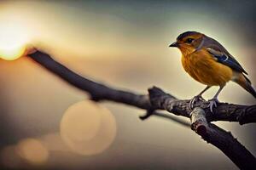
[[[177,41],[173,42],[169,47],[179,48],[182,54],[191,54],[198,48],[201,48],[204,34],[196,31],[186,31],[177,37]]]

